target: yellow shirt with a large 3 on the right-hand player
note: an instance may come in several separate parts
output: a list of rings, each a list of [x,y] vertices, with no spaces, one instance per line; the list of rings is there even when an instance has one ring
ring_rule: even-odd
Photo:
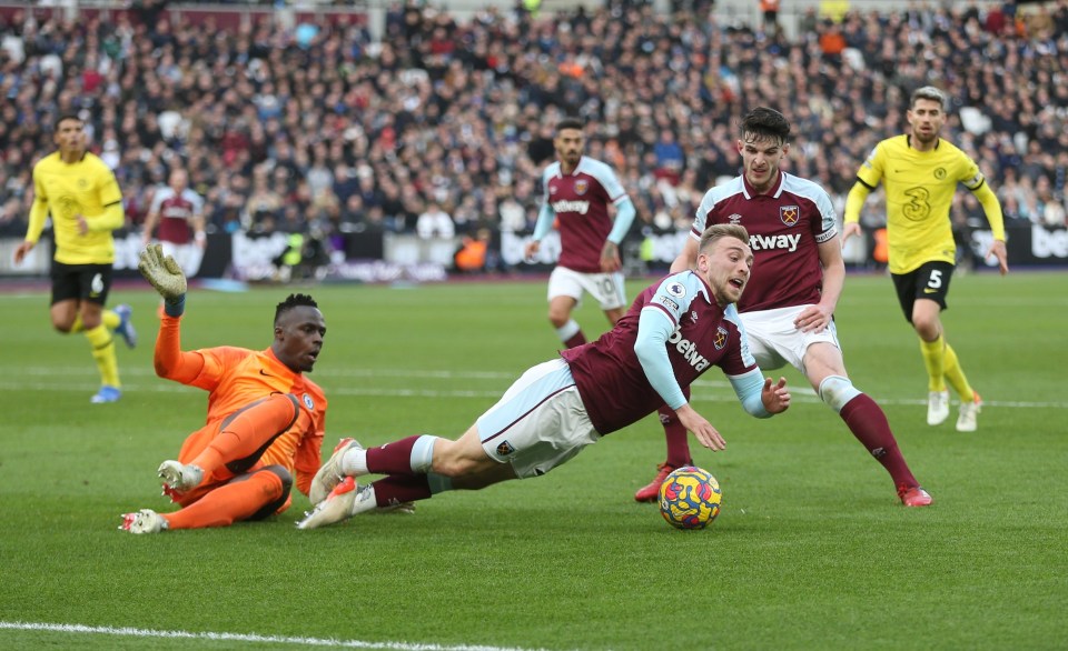
[[[896,136],[876,146],[857,178],[869,188],[880,181],[886,188],[891,273],[956,261],[950,207],[957,183],[975,192],[985,182],[968,154],[941,139],[931,151],[917,151],[908,136]]]

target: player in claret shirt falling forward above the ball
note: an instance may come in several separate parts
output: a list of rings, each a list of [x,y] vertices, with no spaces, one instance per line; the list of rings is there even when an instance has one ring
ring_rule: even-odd
[[[367,450],[343,440],[316,473],[309,497],[318,505],[298,527],[545,474],[664,403],[703,445],[722,450],[723,437],[688,401],[690,384],[713,365],[752,415],[784,411],[785,380],[763,377],[733,306],[752,267],[746,241],[739,226],[710,228],[696,271],[653,284],[601,339],[530,369],[458,440],[418,435]],[[388,477],[357,488],[352,478],[367,473]]]

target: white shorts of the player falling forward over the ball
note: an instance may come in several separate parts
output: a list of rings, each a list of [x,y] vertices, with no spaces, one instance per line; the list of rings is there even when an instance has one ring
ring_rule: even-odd
[[[545,474],[601,438],[562,359],[523,373],[475,424],[486,454],[520,479]]]

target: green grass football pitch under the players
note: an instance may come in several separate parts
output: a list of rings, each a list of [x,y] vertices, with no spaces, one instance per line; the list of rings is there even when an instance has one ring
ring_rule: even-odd
[[[629,296],[646,284],[633,281]],[[543,280],[422,287],[194,289],[182,347],[266,348],[289,291],[328,327],[312,378],[328,454],[456,437],[558,341]],[[156,468],[204,422],[206,393],[152,371],[157,297],[123,287],[140,344],[123,398],[97,405],[81,335],[43,290],[0,293],[2,649],[1064,649],[1068,640],[1068,274],[953,279],[949,340],[986,405],[979,431],[926,424],[919,345],[890,280],[850,276],[837,322],[854,383],[887,411],[934,495],[902,508],[878,463],[801,375],[770,420],[718,369],[694,405],[728,449],[691,438],[723,489],[704,531],[670,528],[634,490],[663,460],[650,417],[546,477],[297,531],[263,523],[135,537],[168,510]],[[605,329],[587,304],[587,335]]]

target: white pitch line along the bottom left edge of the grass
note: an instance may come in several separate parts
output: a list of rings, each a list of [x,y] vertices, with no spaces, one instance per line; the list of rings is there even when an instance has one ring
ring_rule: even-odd
[[[289,635],[260,635],[257,633],[214,633],[192,631],[158,631],[134,627],[88,627],[85,624],[50,624],[40,622],[0,621],[0,630],[48,631],[55,633],[79,633],[123,635],[128,638],[162,638],[181,640],[210,640],[227,642],[256,642],[269,644],[293,644],[295,647],[335,647],[345,649],[388,649],[390,651],[544,651],[518,647],[488,647],[485,644],[419,644],[411,642],[367,642],[364,640],[335,640],[332,638],[306,638]]]

